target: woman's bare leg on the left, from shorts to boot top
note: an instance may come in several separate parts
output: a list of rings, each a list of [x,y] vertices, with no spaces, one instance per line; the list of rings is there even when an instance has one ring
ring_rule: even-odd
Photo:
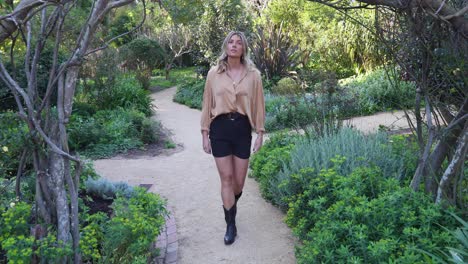
[[[234,205],[234,162],[233,156],[215,158],[216,167],[218,167],[219,177],[221,179],[221,199],[226,209]]]

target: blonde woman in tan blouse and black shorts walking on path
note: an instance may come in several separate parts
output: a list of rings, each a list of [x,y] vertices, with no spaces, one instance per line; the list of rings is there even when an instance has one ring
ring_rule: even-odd
[[[217,65],[208,72],[203,94],[203,150],[213,154],[221,178],[226,245],[237,235],[237,201],[249,166],[252,128],[257,132],[253,152],[262,147],[265,133],[262,79],[248,55],[245,35],[230,32]]]

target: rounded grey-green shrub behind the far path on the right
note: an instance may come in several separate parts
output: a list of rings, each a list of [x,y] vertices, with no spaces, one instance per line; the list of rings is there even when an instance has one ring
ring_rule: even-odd
[[[396,78],[389,79],[384,69],[341,80],[341,84],[350,96],[358,99],[356,111],[360,114],[407,109],[414,105],[414,84]]]

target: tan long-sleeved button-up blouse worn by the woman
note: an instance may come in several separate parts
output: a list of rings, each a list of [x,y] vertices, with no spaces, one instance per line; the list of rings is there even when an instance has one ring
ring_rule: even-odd
[[[249,117],[257,133],[265,132],[265,98],[260,72],[249,67],[236,83],[217,67],[208,72],[203,93],[201,130],[210,130],[211,121],[221,114],[238,112]]]

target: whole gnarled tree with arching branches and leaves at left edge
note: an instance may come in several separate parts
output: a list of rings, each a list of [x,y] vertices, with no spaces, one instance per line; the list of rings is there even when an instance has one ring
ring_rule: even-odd
[[[21,83],[14,70],[5,66],[4,50],[0,52],[0,79],[10,89],[20,117],[27,123],[32,148],[25,149],[36,172],[36,219],[52,225],[62,245],[72,244],[74,263],[81,263],[79,253],[78,187],[82,163],[70,154],[66,124],[72,112],[77,77],[83,59],[106,46],[104,39],[94,42],[106,15],[133,0],[37,1],[22,0],[14,10],[0,18],[0,42],[4,48],[24,49],[26,82]],[[86,14],[79,20],[80,14]],[[67,35],[68,29],[78,34]],[[11,41],[16,34],[21,41]],[[41,65],[47,47],[51,47],[51,66],[45,91],[39,92]],[[64,56],[61,58],[60,54]],[[15,56],[14,56],[15,55]],[[9,53],[11,65],[18,58]],[[56,100],[52,94],[56,93]],[[53,101],[54,100],[54,101]],[[21,174],[21,169],[19,171]],[[71,235],[70,235],[71,234]],[[39,234],[40,235],[40,234]],[[42,234],[45,235],[45,234]],[[62,261],[63,263],[66,260]]]

